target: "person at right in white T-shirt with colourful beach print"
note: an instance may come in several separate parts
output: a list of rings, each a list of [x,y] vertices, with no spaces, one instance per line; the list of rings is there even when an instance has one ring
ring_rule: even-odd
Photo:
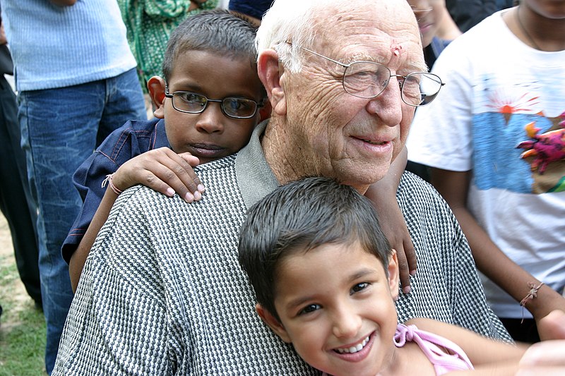
[[[418,109],[408,140],[519,341],[538,341],[535,322],[565,309],[564,61],[564,1],[494,14],[439,56],[433,72],[449,84]]]

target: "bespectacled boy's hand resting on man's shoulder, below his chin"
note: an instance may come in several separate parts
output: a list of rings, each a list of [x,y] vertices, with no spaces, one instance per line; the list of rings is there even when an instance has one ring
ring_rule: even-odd
[[[188,152],[177,154],[168,147],[160,147],[122,164],[112,176],[112,183],[119,190],[143,184],[169,197],[176,192],[186,202],[198,201],[204,186],[192,167],[199,163]]]

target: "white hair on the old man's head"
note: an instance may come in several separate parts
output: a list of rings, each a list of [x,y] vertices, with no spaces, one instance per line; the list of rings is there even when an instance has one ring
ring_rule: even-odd
[[[345,0],[332,0],[331,5],[342,2],[345,3]],[[304,55],[300,47],[312,46],[314,16],[327,7],[327,0],[275,0],[257,30],[257,54],[274,49],[285,68],[292,73],[301,71]],[[292,45],[287,42],[292,42]]]

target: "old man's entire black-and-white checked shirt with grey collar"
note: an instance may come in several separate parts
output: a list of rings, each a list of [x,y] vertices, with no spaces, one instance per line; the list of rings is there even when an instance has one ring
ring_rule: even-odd
[[[316,375],[258,318],[237,262],[246,210],[277,186],[258,135],[197,174],[206,194],[192,204],[141,186],[119,196],[85,264],[53,375]],[[398,200],[418,253],[399,319],[509,338],[445,202],[411,174]]]

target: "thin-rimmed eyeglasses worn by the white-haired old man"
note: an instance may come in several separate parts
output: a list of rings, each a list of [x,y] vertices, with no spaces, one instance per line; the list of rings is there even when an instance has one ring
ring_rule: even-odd
[[[292,42],[287,42],[292,44]],[[434,73],[412,72],[408,75],[392,74],[387,66],[374,61],[353,61],[345,64],[340,61],[323,56],[311,49],[300,47],[304,51],[320,56],[323,59],[343,66],[342,83],[345,92],[354,97],[371,99],[377,97],[386,89],[391,78],[399,78],[400,98],[405,104],[412,107],[425,106],[432,102],[444,83]]]

